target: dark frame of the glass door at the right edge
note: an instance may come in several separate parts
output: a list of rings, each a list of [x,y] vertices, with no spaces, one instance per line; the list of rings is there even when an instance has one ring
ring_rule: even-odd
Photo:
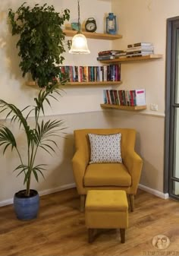
[[[165,68],[165,169],[164,169],[164,192],[169,193],[172,198],[171,179],[173,179],[173,148],[174,148],[174,109],[179,106],[174,103],[175,65],[176,65],[176,34],[174,31],[179,27],[179,16],[167,19],[167,46],[166,46],[166,68]],[[173,40],[172,40],[173,38]],[[171,75],[172,74],[172,75]],[[178,179],[173,179],[178,181]],[[178,199],[178,198],[177,198]]]

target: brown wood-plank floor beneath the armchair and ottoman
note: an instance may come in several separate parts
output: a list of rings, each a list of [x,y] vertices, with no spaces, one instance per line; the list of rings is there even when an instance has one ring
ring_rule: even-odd
[[[179,255],[178,201],[163,200],[139,190],[136,208],[129,214],[126,242],[121,244],[115,229],[106,229],[99,232],[93,244],[88,244],[76,189],[49,194],[40,200],[39,217],[31,221],[17,220],[12,205],[0,207],[1,256]],[[152,247],[152,238],[159,234],[167,235],[171,241],[165,252]]]

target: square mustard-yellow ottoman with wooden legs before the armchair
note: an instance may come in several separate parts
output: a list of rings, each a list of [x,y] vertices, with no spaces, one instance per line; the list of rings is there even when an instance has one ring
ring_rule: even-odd
[[[89,242],[93,242],[93,229],[120,229],[121,242],[125,242],[128,227],[127,195],[122,190],[90,190],[85,204],[85,221]]]

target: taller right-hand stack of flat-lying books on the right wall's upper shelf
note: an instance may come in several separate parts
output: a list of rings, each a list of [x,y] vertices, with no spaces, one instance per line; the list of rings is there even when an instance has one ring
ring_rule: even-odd
[[[152,43],[133,43],[127,46],[126,57],[146,56],[154,53]]]

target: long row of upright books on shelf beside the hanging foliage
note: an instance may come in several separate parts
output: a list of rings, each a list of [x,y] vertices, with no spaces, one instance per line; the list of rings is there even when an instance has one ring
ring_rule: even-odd
[[[121,65],[103,66],[61,66],[59,79],[63,80],[64,75],[69,82],[101,82],[121,81]]]

